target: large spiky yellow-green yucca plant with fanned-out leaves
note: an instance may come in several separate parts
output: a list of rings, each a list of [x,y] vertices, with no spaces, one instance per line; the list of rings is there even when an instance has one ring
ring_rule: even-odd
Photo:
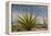
[[[31,28],[38,25],[37,16],[33,17],[32,14],[24,14],[22,16],[19,16],[18,23],[22,26],[22,28],[27,31],[31,31]]]

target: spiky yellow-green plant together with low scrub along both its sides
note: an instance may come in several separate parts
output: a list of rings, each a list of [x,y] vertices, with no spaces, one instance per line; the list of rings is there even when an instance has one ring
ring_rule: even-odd
[[[24,14],[22,16],[18,16],[17,25],[12,25],[12,32],[20,31],[31,31],[32,28],[48,28],[48,23],[43,20],[43,24],[40,24],[37,21],[37,16],[32,16],[32,14]]]

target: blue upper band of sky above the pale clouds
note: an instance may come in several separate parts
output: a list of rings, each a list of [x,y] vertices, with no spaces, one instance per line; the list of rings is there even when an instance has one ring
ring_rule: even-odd
[[[32,13],[40,16],[48,15],[48,7],[47,5],[27,5],[27,4],[12,4],[12,13]]]

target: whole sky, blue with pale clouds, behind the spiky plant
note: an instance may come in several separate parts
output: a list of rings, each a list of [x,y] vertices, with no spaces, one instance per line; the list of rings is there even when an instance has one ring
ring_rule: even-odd
[[[42,17],[48,17],[48,7],[47,5],[35,5],[35,4],[11,4],[12,21],[16,21],[18,15],[22,13],[32,13],[33,15],[39,16],[42,21]]]

